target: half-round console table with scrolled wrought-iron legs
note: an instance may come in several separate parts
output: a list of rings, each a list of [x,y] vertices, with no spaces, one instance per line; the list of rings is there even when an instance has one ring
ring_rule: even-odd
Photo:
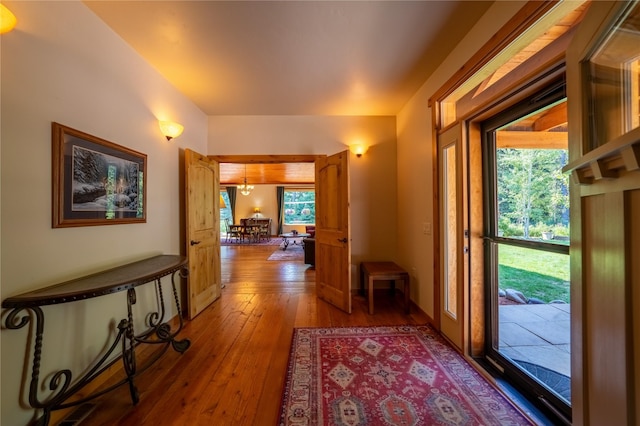
[[[124,384],[129,385],[131,400],[133,404],[137,404],[139,394],[134,384],[134,378],[157,361],[169,346],[180,353],[183,353],[189,348],[191,342],[188,339],[175,339],[183,327],[182,316],[180,314],[178,315],[180,323],[176,330],[171,330],[171,326],[167,322],[163,322],[165,303],[162,294],[162,277],[171,275],[171,286],[175,305],[178,313],[181,312],[175,284],[175,276],[177,273],[183,277],[187,275],[187,258],[183,256],[160,255],[97,274],[9,297],[2,301],[3,308],[11,309],[5,319],[5,325],[8,329],[22,328],[35,319],[35,323],[33,324],[35,328],[35,346],[33,350],[31,382],[29,384],[29,404],[35,409],[43,410],[42,417],[38,419],[37,424],[47,425],[51,417],[51,412],[54,410],[66,409],[83,404]],[[134,322],[132,312],[132,306],[136,303],[136,287],[150,282],[155,282],[157,311],[147,314],[147,330],[136,334],[133,329]],[[41,401],[38,396],[38,390],[42,389],[39,383],[39,373],[40,361],[42,359],[42,336],[44,333],[44,313],[41,307],[100,297],[125,290],[127,292],[127,318],[120,320],[118,324],[118,334],[109,349],[106,350],[82,377],[76,380],[73,380],[72,372],[67,369],[53,374],[47,386],[53,391],[53,394],[47,398],[47,400]],[[136,364],[135,349],[143,343],[159,345],[161,349],[156,351],[144,365],[138,366]],[[29,343],[27,342],[27,344]],[[115,360],[112,360],[111,355],[118,346],[121,347],[121,354]],[[114,362],[118,361],[118,359],[122,359],[126,377],[108,386],[106,389],[96,391],[82,399],[67,402],[71,396],[78,393],[89,382],[113,365]]]

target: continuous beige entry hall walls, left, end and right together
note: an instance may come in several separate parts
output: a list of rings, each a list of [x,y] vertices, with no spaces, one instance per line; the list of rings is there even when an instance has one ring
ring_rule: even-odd
[[[350,157],[352,261],[395,260],[410,270],[412,298],[433,312],[431,112],[428,97],[524,2],[497,2],[397,117],[207,118],[80,2],[5,2],[18,29],[0,38],[1,296],[18,294],[180,247],[179,150],[202,154]],[[185,125],[171,143],[158,118]],[[148,155],[146,224],[51,229],[51,121]],[[241,195],[239,195],[241,197]],[[353,269],[355,284],[355,268]],[[141,302],[142,304],[142,302]],[[124,311],[124,293],[46,308],[42,375],[95,359]],[[174,312],[170,314],[173,315]],[[6,315],[6,314],[5,314]],[[2,330],[2,424],[25,424],[27,330]],[[51,351],[52,347],[70,348]],[[27,367],[29,363],[27,363]]]

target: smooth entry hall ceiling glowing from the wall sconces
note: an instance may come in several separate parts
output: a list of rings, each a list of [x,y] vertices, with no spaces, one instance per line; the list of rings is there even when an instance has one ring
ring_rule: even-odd
[[[207,115],[396,115],[493,2],[84,3]]]

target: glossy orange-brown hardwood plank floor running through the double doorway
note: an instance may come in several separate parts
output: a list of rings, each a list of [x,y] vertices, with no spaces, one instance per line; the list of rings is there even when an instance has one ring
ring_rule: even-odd
[[[425,324],[376,294],[375,315],[354,296],[346,314],[315,296],[315,270],[302,261],[267,261],[274,246],[221,247],[222,296],[136,379],[140,402],[127,386],[106,394],[83,425],[276,425],[294,327]]]

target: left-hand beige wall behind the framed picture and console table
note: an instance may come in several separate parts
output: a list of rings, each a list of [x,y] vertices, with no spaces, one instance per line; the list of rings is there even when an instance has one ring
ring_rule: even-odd
[[[155,254],[179,254],[179,150],[206,153],[206,116],[81,2],[3,3],[18,26],[0,36],[2,299]],[[160,118],[184,124],[184,134],[168,143]],[[52,121],[147,154],[147,223],[51,228]],[[149,307],[148,290],[138,292],[136,309]],[[125,317],[125,296],[45,307],[41,379],[93,361]],[[33,413],[20,406],[27,406],[28,328],[0,334],[3,425],[26,424]]]

